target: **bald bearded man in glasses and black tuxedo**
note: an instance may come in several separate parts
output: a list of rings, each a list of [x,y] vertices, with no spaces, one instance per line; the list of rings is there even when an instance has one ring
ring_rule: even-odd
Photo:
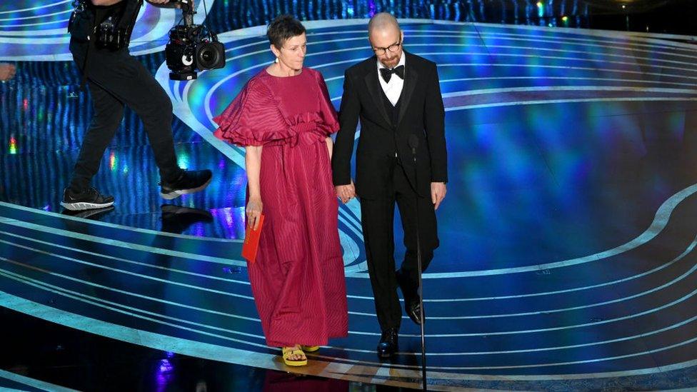
[[[368,273],[382,329],[378,356],[397,349],[401,307],[419,323],[416,261],[418,206],[422,268],[438,247],[436,208],[446,196],[445,111],[436,64],[402,49],[403,31],[386,13],[368,24],[368,39],[375,56],[346,70],[332,170],[336,194],[344,203],[353,196],[361,202],[361,223],[366,243]],[[361,136],[356,150],[356,184],[351,181],[351,154],[356,125]],[[410,138],[416,136],[416,174]],[[413,141],[412,141],[413,145]],[[406,255],[395,272],[394,206],[399,208]]]

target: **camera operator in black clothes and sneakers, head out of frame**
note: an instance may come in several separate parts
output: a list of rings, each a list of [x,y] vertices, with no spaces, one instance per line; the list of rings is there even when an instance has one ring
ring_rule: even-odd
[[[104,208],[114,203],[114,197],[101,194],[90,183],[99,170],[106,147],[121,124],[124,106],[129,106],[143,121],[159,168],[160,196],[171,199],[191,194],[201,191],[211,181],[210,170],[185,171],[179,168],[172,137],[169,96],[150,71],[129,54],[128,42],[142,1],[76,0],[68,28],[70,51],[83,75],[83,83],[86,82],[91,93],[94,117],[84,135],[70,184],[61,202],[71,211]],[[179,8],[181,4],[169,0],[146,1],[163,8]],[[111,34],[115,31],[109,29],[112,26],[121,28],[117,33],[126,33]]]

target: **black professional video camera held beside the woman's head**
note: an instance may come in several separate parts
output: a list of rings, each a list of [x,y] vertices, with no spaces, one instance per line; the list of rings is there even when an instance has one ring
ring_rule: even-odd
[[[225,48],[218,36],[207,26],[194,24],[194,11],[189,0],[171,1],[180,4],[184,24],[169,31],[165,47],[171,80],[196,79],[196,69],[219,69],[225,66]]]

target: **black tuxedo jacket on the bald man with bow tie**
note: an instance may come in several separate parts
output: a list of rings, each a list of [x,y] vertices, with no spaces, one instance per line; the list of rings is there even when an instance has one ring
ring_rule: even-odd
[[[404,85],[396,121],[384,101],[376,56],[351,66],[344,74],[341,128],[331,159],[332,176],[334,185],[351,183],[351,155],[360,120],[355,185],[361,198],[390,196],[395,155],[419,196],[431,197],[431,182],[448,181],[445,111],[436,64],[407,51],[404,56]],[[416,175],[409,146],[411,135],[418,138]]]

